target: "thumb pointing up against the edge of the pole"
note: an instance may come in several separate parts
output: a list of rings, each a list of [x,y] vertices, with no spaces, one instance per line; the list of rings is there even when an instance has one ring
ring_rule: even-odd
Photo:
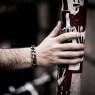
[[[60,34],[60,30],[61,30],[61,21],[58,21],[56,27],[49,34],[49,37],[56,37],[56,36],[58,36]]]

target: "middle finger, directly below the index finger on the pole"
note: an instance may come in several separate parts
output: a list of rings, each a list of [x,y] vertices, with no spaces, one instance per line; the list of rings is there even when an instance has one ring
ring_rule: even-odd
[[[83,50],[84,44],[64,43],[58,45],[59,50]]]

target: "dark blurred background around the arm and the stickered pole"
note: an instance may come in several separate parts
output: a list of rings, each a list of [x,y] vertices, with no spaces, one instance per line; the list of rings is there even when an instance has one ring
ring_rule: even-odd
[[[40,42],[60,19],[61,0],[0,0],[0,47]],[[89,0],[81,95],[95,95],[95,0]],[[56,95],[57,67],[0,70],[0,95]]]

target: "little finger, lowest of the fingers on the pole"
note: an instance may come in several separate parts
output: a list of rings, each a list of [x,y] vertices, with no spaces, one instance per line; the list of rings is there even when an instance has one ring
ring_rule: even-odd
[[[59,59],[59,64],[78,64],[82,62],[82,59],[75,58],[75,59]]]

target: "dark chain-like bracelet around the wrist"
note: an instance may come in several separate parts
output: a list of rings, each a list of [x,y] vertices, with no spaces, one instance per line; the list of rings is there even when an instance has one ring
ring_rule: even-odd
[[[31,61],[32,61],[32,68],[37,67],[35,45],[31,45]]]

